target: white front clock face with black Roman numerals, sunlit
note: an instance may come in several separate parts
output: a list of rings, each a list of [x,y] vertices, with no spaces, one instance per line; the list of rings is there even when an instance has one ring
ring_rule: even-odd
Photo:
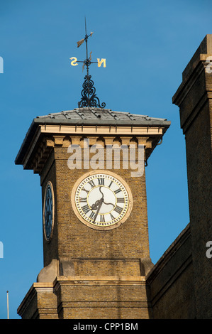
[[[111,230],[121,225],[132,205],[130,190],[118,176],[111,173],[89,173],[74,189],[74,211],[89,227]]]

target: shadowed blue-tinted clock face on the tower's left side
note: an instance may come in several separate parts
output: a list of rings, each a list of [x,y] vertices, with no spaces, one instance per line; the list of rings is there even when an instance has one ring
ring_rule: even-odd
[[[54,198],[52,183],[48,182],[45,188],[44,208],[43,208],[43,225],[45,239],[50,241],[54,223]]]

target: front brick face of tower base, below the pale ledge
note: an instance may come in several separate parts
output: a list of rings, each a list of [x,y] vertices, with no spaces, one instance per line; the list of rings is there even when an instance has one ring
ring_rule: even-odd
[[[135,276],[134,276],[135,277]],[[57,278],[60,318],[142,318],[147,316],[145,280],[89,277],[78,284]],[[77,296],[77,302],[76,302]],[[143,312],[144,311],[144,312]]]

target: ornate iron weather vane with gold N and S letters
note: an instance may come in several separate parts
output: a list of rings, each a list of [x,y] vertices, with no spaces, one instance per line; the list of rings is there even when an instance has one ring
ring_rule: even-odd
[[[98,67],[100,68],[101,65],[104,65],[104,68],[106,68],[106,59],[97,58],[97,62],[92,62],[91,61],[91,53],[88,56],[88,38],[92,36],[93,33],[91,32],[89,35],[87,35],[87,25],[86,25],[86,18],[85,18],[85,37],[82,38],[82,40],[77,42],[77,48],[79,48],[82,43],[86,43],[86,59],[84,61],[77,60],[76,57],[69,58],[72,60],[71,65],[72,66],[77,66],[78,63],[83,63],[82,65],[82,70],[84,70],[84,66],[87,68],[87,75],[84,77],[84,83],[82,85],[83,90],[81,92],[82,99],[80,102],[78,102],[78,107],[83,108],[83,107],[99,107],[99,108],[104,108],[106,104],[103,102],[100,104],[99,102],[99,97],[96,96],[96,88],[94,87],[94,81],[91,80],[91,75],[89,75],[89,66],[93,63],[98,64]]]

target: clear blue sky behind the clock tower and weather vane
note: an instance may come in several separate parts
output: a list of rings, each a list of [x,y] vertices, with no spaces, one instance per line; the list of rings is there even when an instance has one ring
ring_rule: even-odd
[[[172,125],[146,168],[150,257],[156,263],[189,223],[186,150],[172,96],[207,33],[211,1],[1,0],[0,318],[10,318],[43,268],[40,177],[14,160],[33,118],[77,107],[84,73],[69,58],[94,31],[89,51],[96,94],[114,111],[162,117]]]

